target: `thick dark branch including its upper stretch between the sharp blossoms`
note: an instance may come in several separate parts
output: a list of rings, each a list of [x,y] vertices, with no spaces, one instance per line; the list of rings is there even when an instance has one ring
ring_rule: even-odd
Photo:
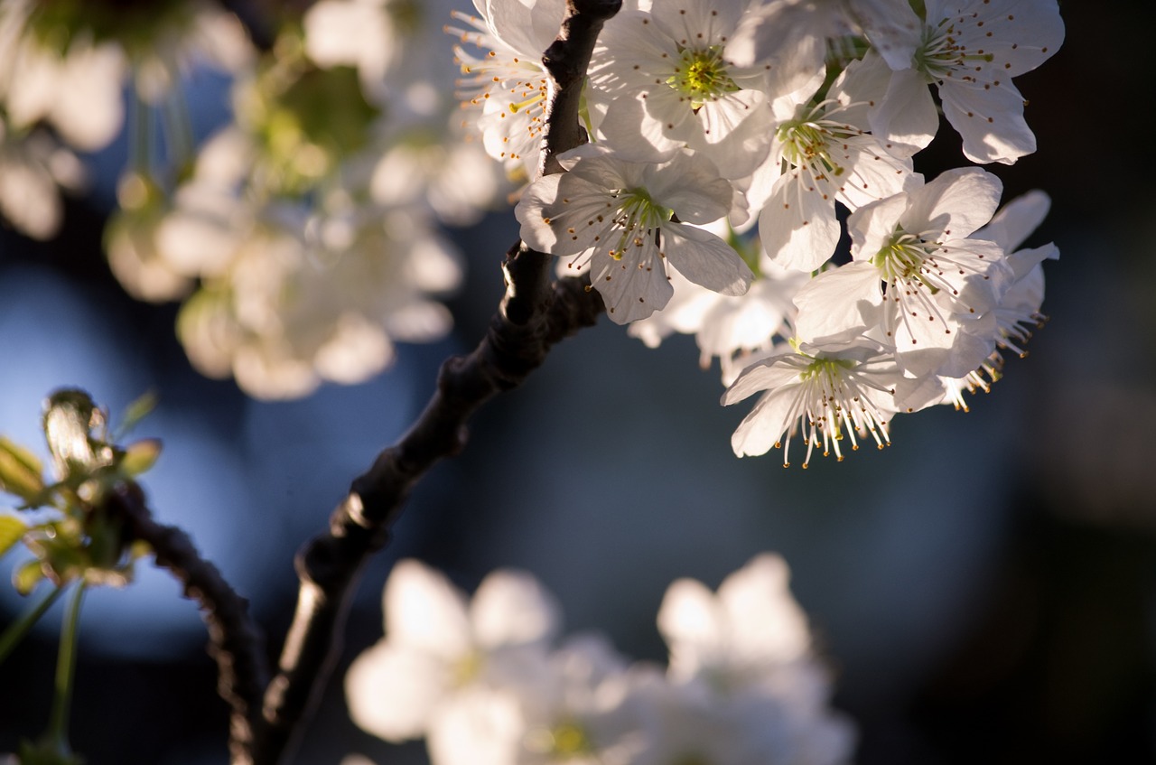
[[[580,146],[586,135],[578,107],[591,51],[602,23],[621,0],[568,0],[566,18],[543,64],[554,79],[547,104],[543,168],[558,171],[556,155]],[[446,359],[437,391],[408,433],[381,452],[295,560],[301,588],[294,623],[279,669],[265,693],[252,759],[235,763],[275,765],[312,712],[340,654],[340,632],[348,601],[364,562],[381,549],[414,485],[435,462],[457,454],[466,443],[469,417],[502,391],[521,384],[542,364],[554,343],[602,313],[588,282],[566,278],[551,284],[553,258],[521,244],[503,266],[506,292],[486,337],[465,357]]]

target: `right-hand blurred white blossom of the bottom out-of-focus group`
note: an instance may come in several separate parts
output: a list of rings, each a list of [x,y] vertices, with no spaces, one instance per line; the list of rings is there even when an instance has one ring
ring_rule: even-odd
[[[763,554],[718,593],[692,579],[670,585],[658,624],[672,686],[638,765],[849,762],[854,729],[828,707],[828,670],[787,579],[783,559]]]

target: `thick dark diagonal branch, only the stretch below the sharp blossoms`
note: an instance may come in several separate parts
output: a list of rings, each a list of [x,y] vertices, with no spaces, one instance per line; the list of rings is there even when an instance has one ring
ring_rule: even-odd
[[[507,257],[507,273],[535,255],[540,253],[514,247]],[[511,281],[503,311],[491,320],[486,339],[469,356],[446,359],[437,392],[413,429],[353,482],[329,519],[328,533],[298,554],[297,611],[265,697],[253,763],[277,763],[312,711],[340,653],[340,627],[362,565],[385,547],[413,488],[435,462],[465,446],[466,422],[479,407],[519,385],[554,343],[602,314],[601,297],[587,287],[585,280],[564,278],[544,295],[534,287],[521,295],[519,282]],[[512,307],[539,299],[526,321],[516,324],[509,318]]]

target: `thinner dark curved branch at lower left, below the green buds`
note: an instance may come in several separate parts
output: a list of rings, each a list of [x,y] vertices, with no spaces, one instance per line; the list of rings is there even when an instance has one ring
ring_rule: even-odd
[[[235,764],[250,763],[259,700],[268,682],[265,638],[249,614],[249,601],[234,592],[212,563],[200,556],[179,528],[153,520],[144,495],[134,483],[108,497],[106,510],[125,521],[126,540],[153,548],[156,564],[197,601],[209,632],[209,655],[217,663],[217,692],[229,704],[229,748]]]

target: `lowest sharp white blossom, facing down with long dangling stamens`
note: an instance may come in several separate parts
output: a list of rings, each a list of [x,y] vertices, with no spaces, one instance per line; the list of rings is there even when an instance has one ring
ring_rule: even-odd
[[[833,451],[839,461],[847,451],[844,440],[851,451],[868,437],[883,448],[890,444],[887,425],[902,378],[895,355],[877,343],[862,340],[831,350],[799,343],[751,364],[722,394],[724,406],[729,406],[762,393],[731,446],[739,456],[781,448],[783,466],[790,467],[791,439],[802,431],[805,468],[816,447],[823,456]]]

